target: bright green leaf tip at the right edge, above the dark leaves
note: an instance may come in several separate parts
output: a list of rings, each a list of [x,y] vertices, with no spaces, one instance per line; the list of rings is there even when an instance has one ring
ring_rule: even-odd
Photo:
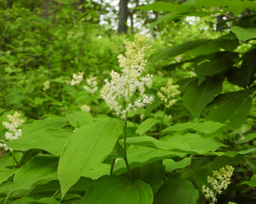
[[[256,29],[254,28],[242,28],[239,26],[232,26],[231,31],[235,33],[239,41],[247,41],[256,38]]]

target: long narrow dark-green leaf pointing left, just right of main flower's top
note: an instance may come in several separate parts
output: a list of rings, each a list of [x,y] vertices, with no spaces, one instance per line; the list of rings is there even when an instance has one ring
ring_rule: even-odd
[[[187,41],[182,45],[176,45],[176,46],[167,48],[162,53],[158,54],[157,57],[154,57],[153,63],[160,61],[166,57],[175,57],[179,54],[185,53],[190,49],[194,49],[195,47],[198,47],[199,45],[206,43],[206,41],[209,41],[209,40]]]

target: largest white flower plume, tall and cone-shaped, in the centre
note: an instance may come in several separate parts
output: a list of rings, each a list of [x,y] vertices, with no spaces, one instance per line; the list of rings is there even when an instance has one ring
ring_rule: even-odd
[[[136,111],[138,108],[146,107],[154,101],[154,96],[146,95],[145,88],[152,85],[153,75],[147,74],[142,77],[144,66],[144,53],[150,48],[146,44],[146,37],[135,35],[135,41],[125,41],[126,57],[118,55],[118,62],[122,68],[120,75],[113,70],[110,73],[111,80],[105,80],[101,96],[115,115],[126,119],[130,109]],[[138,98],[134,95],[139,92]]]

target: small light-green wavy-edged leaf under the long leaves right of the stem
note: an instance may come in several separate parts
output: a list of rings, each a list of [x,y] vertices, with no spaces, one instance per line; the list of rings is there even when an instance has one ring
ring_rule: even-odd
[[[174,159],[163,159],[162,163],[166,166],[166,172],[172,172],[176,169],[182,169],[189,166],[191,163],[191,158],[184,158],[178,162],[175,162]]]

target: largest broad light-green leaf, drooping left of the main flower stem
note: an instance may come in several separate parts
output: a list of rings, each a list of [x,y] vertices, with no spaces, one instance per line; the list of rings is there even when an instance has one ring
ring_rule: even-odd
[[[81,176],[90,177],[96,171],[113,150],[122,127],[119,120],[100,120],[82,126],[66,140],[58,164],[62,197]]]

